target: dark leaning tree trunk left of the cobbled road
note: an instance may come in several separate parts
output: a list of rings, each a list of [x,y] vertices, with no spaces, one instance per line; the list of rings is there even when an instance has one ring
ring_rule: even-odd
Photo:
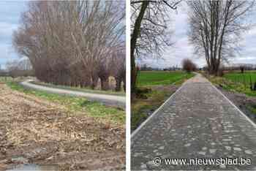
[[[138,18],[136,18],[135,20],[135,28],[132,32],[132,37],[131,37],[130,53],[131,53],[131,92],[132,94],[135,94],[135,91],[136,91],[136,76],[137,76],[137,69],[135,64],[135,47],[136,47],[137,39],[140,34],[141,21],[143,20],[143,16],[144,16],[144,13],[146,12],[146,8],[148,7],[148,4],[149,4],[149,1],[143,1]]]

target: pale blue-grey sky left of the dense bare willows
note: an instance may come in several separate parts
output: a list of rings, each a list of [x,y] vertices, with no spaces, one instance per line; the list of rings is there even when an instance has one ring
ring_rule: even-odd
[[[12,48],[12,31],[18,28],[27,1],[0,1],[0,65],[18,58]]]

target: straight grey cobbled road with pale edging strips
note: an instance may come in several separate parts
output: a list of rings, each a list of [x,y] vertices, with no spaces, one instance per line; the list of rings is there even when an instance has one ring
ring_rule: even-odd
[[[131,147],[132,170],[256,170],[255,123],[200,75],[184,83],[135,130]],[[157,156],[162,158],[159,165],[152,160]],[[188,166],[167,165],[164,160],[226,157],[252,159],[252,164]]]

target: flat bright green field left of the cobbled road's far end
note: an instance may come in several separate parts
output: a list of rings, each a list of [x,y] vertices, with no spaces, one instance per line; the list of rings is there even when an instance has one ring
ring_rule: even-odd
[[[186,72],[146,71],[139,72],[138,86],[170,85],[194,76]]]

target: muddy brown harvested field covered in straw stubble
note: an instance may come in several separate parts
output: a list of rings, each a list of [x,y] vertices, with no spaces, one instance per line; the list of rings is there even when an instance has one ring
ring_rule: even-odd
[[[0,83],[0,170],[125,169],[124,126],[65,111]]]

